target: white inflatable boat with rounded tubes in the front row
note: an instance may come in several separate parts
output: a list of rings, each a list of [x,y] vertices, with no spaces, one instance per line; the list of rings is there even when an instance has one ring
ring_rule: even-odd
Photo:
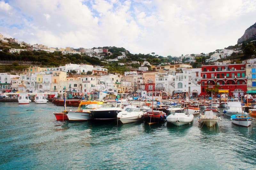
[[[188,124],[192,122],[193,119],[194,119],[193,114],[186,115],[185,112],[170,114],[166,117],[167,122],[170,122],[176,126],[182,126],[184,124]]]

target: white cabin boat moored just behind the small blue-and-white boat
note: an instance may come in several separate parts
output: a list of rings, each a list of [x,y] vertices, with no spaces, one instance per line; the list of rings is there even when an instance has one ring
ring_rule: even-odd
[[[223,113],[227,116],[241,115],[243,113],[241,102],[235,99],[228,99],[227,108],[223,110]],[[244,112],[247,115],[246,112]]]

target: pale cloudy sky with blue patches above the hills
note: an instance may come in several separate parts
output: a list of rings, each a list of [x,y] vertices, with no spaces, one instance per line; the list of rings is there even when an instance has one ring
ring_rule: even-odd
[[[0,0],[0,33],[31,45],[181,56],[235,45],[255,16],[255,0]]]

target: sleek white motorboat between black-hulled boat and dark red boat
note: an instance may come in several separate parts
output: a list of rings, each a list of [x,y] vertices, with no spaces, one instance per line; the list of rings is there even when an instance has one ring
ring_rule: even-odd
[[[137,108],[136,106],[128,105],[125,107],[124,111],[117,114],[117,118],[123,123],[132,123],[142,120],[143,110]]]

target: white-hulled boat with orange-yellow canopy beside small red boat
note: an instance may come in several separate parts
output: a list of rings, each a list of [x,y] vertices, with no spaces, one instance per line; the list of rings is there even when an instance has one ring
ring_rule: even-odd
[[[67,116],[69,121],[87,121],[92,119],[90,110],[100,108],[102,102],[80,102],[76,111],[68,111]]]

